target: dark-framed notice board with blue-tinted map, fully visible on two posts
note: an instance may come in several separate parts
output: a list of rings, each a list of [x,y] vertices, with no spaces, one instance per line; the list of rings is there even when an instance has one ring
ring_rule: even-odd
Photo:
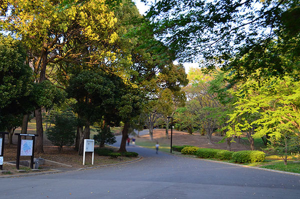
[[[30,158],[30,168],[33,168],[33,158],[34,158],[34,140],[37,134],[22,134],[14,133],[17,136],[17,151],[16,151],[16,169],[19,169],[20,156],[31,156]],[[21,139],[21,136],[25,136],[25,139]],[[26,139],[26,136],[30,136],[30,139]]]

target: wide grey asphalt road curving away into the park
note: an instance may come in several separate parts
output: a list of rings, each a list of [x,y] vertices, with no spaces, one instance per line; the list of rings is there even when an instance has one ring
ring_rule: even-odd
[[[139,161],[0,178],[0,198],[300,198],[300,176],[178,157],[138,146]]]

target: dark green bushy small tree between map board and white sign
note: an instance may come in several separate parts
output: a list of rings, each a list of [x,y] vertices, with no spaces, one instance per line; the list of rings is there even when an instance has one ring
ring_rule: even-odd
[[[70,111],[57,113],[54,116],[54,126],[47,129],[47,138],[53,145],[58,147],[59,152],[62,146],[69,146],[74,143],[76,131],[75,121],[75,116]]]

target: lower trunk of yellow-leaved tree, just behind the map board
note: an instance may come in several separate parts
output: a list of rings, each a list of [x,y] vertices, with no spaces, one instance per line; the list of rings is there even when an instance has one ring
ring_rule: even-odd
[[[41,109],[37,107],[35,109],[35,121],[36,121],[36,134],[35,137],[35,146],[34,151],[36,153],[43,153],[43,128],[42,128],[42,118],[41,118]]]

